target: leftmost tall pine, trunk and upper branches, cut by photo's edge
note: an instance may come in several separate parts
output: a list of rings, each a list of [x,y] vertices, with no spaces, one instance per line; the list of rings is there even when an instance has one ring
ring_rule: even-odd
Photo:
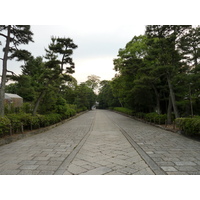
[[[18,61],[28,60],[30,53],[26,50],[19,50],[20,44],[28,44],[32,39],[33,33],[28,25],[0,25],[0,36],[5,38],[5,47],[3,49],[3,61],[1,86],[0,86],[0,115],[4,116],[4,98],[9,59],[18,58]],[[11,46],[12,45],[12,46]]]

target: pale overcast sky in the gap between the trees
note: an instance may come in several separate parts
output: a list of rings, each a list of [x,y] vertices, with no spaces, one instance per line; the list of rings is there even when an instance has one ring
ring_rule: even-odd
[[[123,48],[134,35],[143,34],[144,25],[102,26],[94,25],[80,29],[78,26],[67,25],[34,25],[34,43],[28,45],[34,56],[45,55],[44,48],[50,43],[51,36],[70,37],[78,48],[74,50],[75,73],[79,81],[86,81],[87,76],[95,74],[101,80],[114,77],[113,59],[117,57],[119,48]]]

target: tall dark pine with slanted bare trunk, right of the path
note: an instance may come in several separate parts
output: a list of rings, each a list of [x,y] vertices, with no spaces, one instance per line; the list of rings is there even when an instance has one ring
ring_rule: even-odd
[[[157,63],[160,74],[167,80],[170,98],[176,118],[180,115],[172,80],[182,67],[182,57],[178,52],[178,44],[180,39],[188,30],[190,30],[190,28],[191,26],[188,25],[153,25],[146,27],[146,35],[149,38],[148,45],[151,46],[149,54]]]

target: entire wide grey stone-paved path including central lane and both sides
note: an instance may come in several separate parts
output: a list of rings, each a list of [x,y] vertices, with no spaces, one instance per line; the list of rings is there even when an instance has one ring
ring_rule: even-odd
[[[1,146],[0,174],[200,174],[200,143],[95,110]]]

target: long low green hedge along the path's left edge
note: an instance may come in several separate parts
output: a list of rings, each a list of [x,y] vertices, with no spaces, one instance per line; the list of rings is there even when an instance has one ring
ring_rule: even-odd
[[[85,110],[87,110],[86,107],[77,108],[76,105],[65,104],[63,102],[63,105],[60,104],[56,107],[56,113],[38,114],[36,116],[25,112],[7,114],[6,117],[0,117],[0,137],[22,132],[23,130],[33,130],[50,126]]]

